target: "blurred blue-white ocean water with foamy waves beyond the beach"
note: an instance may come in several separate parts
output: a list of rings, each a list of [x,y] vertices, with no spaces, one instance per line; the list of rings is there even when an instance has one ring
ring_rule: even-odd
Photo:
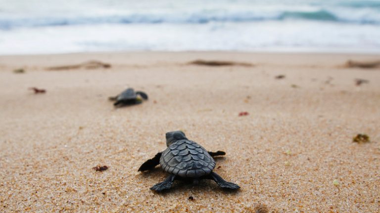
[[[380,53],[380,0],[0,0],[0,54]]]

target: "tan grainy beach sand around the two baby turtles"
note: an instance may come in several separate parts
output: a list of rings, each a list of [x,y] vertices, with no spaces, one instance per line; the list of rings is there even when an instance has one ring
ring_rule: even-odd
[[[0,57],[0,212],[380,212],[379,55],[136,52]],[[255,66],[207,67],[196,59]],[[47,71],[89,60],[110,69]],[[24,74],[13,69],[24,68]],[[275,79],[285,75],[284,79]],[[354,80],[369,84],[356,86]],[[33,94],[28,87],[45,88]],[[114,109],[126,86],[148,93]],[[247,111],[248,116],[238,117]],[[236,193],[214,182],[149,190],[137,172],[182,129]],[[370,143],[354,143],[358,133]],[[106,165],[108,170],[95,171]],[[219,167],[220,166],[220,167]],[[337,185],[334,185],[334,180]],[[192,196],[193,201],[188,198]]]

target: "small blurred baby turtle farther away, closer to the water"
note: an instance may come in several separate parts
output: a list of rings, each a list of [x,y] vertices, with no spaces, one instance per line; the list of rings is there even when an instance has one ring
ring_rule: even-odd
[[[136,91],[133,88],[128,88],[124,90],[119,95],[116,95],[115,97],[109,97],[108,99],[111,101],[116,101],[113,105],[133,105],[133,104],[141,104],[142,99],[147,100],[148,95],[145,92],[142,91]]]

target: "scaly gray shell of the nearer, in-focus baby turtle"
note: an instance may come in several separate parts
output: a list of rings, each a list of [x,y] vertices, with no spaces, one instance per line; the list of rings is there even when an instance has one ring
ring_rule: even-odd
[[[195,178],[209,174],[215,168],[215,161],[199,144],[181,139],[162,152],[160,165],[171,174]]]

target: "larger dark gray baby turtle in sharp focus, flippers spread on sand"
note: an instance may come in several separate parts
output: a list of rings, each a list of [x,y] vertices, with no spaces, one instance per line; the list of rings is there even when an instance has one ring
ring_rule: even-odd
[[[240,188],[212,171],[215,168],[213,157],[225,155],[225,152],[207,152],[202,146],[186,138],[182,131],[167,132],[166,145],[168,146],[166,150],[157,153],[139,168],[139,171],[151,170],[160,164],[163,170],[170,173],[163,182],[152,186],[151,190],[160,192],[169,189],[176,179],[191,179],[193,183],[201,179],[211,179],[222,188]]]

